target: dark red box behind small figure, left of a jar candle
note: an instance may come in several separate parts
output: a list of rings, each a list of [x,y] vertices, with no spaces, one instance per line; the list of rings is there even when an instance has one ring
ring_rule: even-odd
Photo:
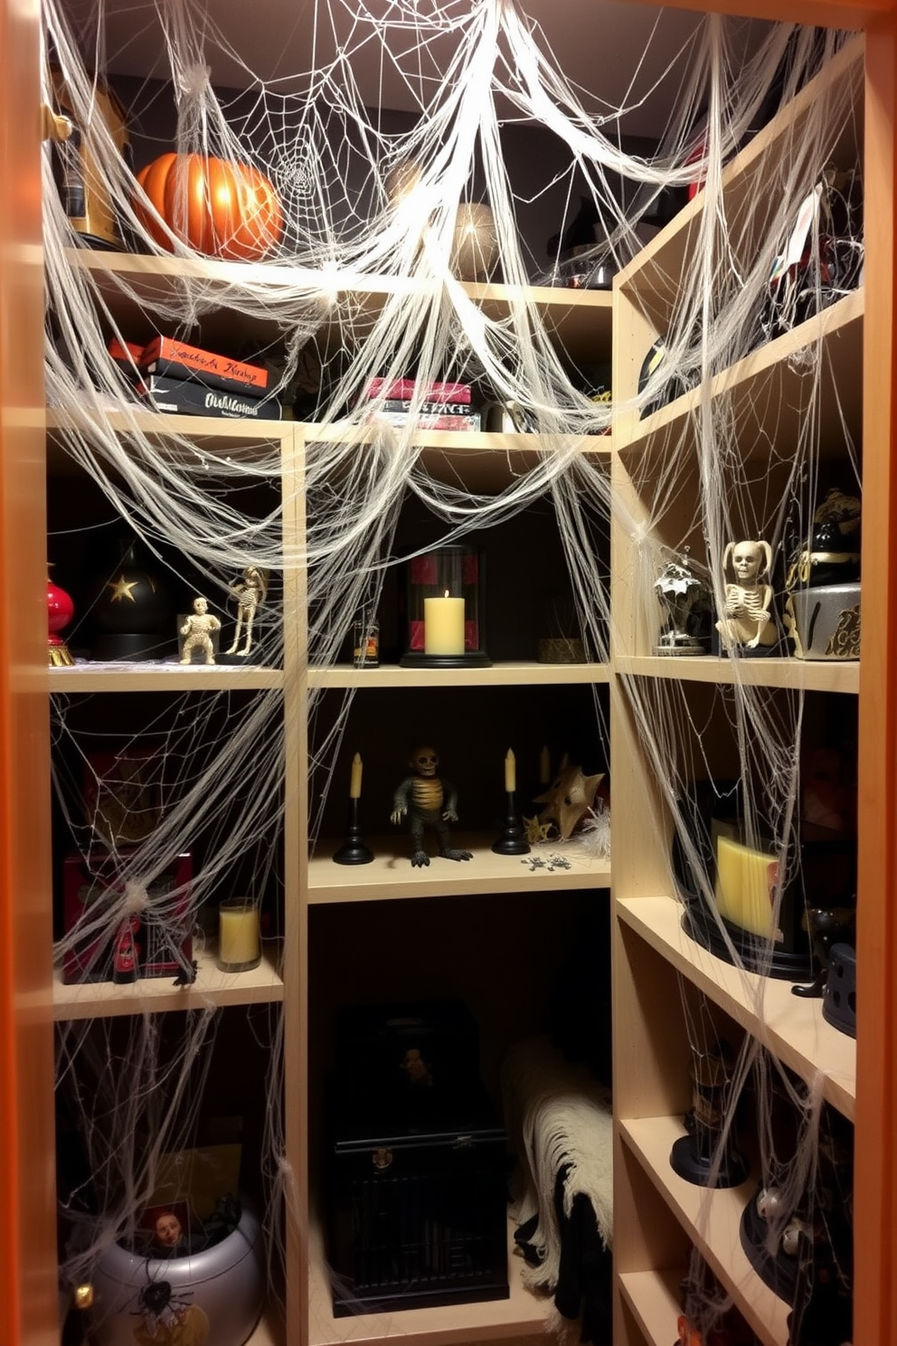
[[[121,852],[118,863],[121,863]],[[126,859],[126,856],[125,856]],[[176,855],[147,887],[147,906],[136,913],[134,944],[141,977],[175,977],[190,968],[190,852]],[[108,851],[66,856],[63,861],[62,980],[112,981],[116,929],[109,914],[125,882]]]

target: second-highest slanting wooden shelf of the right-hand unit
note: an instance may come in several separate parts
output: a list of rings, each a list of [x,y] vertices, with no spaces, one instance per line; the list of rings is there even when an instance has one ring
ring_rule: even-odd
[[[812,397],[814,366],[818,359],[818,424],[820,452],[845,452],[842,420],[862,424],[862,319],[865,291],[845,295],[815,318],[775,341],[750,351],[730,369],[717,374],[709,389],[695,388],[644,420],[636,421],[628,437],[617,440],[621,454],[670,452],[697,443],[697,413],[702,398],[728,394],[740,431],[745,458],[771,454],[769,439],[760,427],[775,425],[775,452],[788,456],[797,444],[807,405]],[[816,400],[814,398],[814,404]],[[753,437],[752,437],[753,431]]]

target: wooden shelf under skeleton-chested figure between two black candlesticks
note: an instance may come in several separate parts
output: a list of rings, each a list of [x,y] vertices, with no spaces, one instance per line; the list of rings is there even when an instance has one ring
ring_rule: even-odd
[[[308,861],[308,900],[389,902],[398,898],[451,898],[494,892],[531,892],[533,890],[566,891],[570,888],[607,888],[611,886],[611,861],[594,860],[574,841],[537,847],[529,855],[496,855],[495,837],[453,835],[452,844],[473,852],[472,860],[442,860],[432,856],[429,865],[413,868],[407,835],[367,837],[374,852],[370,864],[335,864],[332,853],[340,844],[320,841],[317,853]],[[429,843],[432,847],[432,841]],[[561,855],[569,870],[547,870],[549,857]],[[534,859],[543,859],[545,868],[533,868]]]

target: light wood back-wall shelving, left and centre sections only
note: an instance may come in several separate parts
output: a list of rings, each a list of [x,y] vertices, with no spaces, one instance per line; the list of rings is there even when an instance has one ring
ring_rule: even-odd
[[[221,291],[221,312],[210,315],[203,324],[203,336],[211,343],[222,315],[227,315],[227,295],[247,280],[265,277],[276,284],[278,268],[229,265],[217,261],[183,264],[172,258],[149,258],[130,254],[98,254],[73,249],[73,267],[86,269],[104,297],[104,304],[114,314],[122,330],[140,336],[145,326],[143,303],[157,300],[183,275],[203,280],[211,291]],[[301,283],[301,273],[293,268],[284,271],[290,287]],[[125,281],[120,288],[116,277]],[[309,288],[319,277],[309,276]],[[394,291],[387,279],[359,279],[352,289],[355,308],[368,315],[377,312],[383,296]],[[498,284],[467,284],[471,297],[495,315],[508,310],[514,292]],[[604,350],[611,339],[612,296],[609,292],[570,292],[546,289],[535,299],[554,339],[563,349],[578,351]],[[257,330],[249,324],[246,335]],[[270,339],[273,328],[264,335]],[[233,330],[229,332],[233,342]],[[319,332],[325,345],[327,334]],[[319,443],[350,444],[359,452],[371,437],[371,429],[354,425],[315,425],[290,421],[245,423],[239,420],[207,420],[147,413],[133,408],[104,408],[102,419],[122,437],[139,428],[169,454],[190,460],[194,451],[206,456],[211,468],[218,462],[234,458],[250,464],[281,455],[282,495],[289,502],[290,514],[284,521],[285,542],[300,538],[304,530],[305,501],[301,474],[305,454]],[[66,431],[89,432],[90,412],[70,415],[48,413],[48,443],[51,471],[67,478],[73,464],[65,452]],[[171,436],[178,440],[171,447]],[[417,443],[426,466],[436,475],[444,474],[453,482],[463,481],[468,490],[499,490],[514,474],[529,470],[543,447],[538,436],[520,433],[436,432],[421,431]],[[592,455],[609,470],[609,436],[588,440],[565,439],[565,447]],[[285,666],[280,668],[180,668],[175,662],[101,665],[77,664],[74,668],[52,669],[50,690],[56,696],[77,697],[81,693],[126,696],[128,693],[165,692],[269,692],[282,693],[284,724],[288,732],[286,804],[284,836],[292,839],[285,857],[285,911],[284,938],[276,950],[268,950],[256,972],[226,976],[217,972],[212,954],[199,958],[199,975],[194,985],[172,987],[139,981],[129,987],[112,984],[54,985],[54,1016],[56,1020],[77,1020],[94,1016],[110,1018],[144,1012],[169,1012],[191,1007],[282,1004],[285,1016],[285,1059],[289,1062],[285,1078],[285,1135],[286,1162],[296,1174],[299,1209],[288,1224],[286,1245],[286,1315],[285,1323],[266,1316],[251,1339],[251,1346],[268,1346],[281,1341],[285,1346],[350,1341],[373,1342],[385,1334],[399,1334],[420,1342],[449,1343],[461,1341],[518,1339],[541,1335],[545,1331],[546,1302],[533,1295],[520,1281],[520,1260],[512,1254],[512,1228],[508,1226],[508,1259],[511,1295],[507,1300],[473,1303],[453,1308],[414,1308],[390,1315],[362,1315],[335,1319],[332,1315],[329,1277],[325,1265],[324,1242],[320,1233],[319,1211],[309,1193],[309,1176],[317,1167],[317,1156],[309,1148],[313,1131],[312,1110],[317,1088],[309,1078],[308,1024],[311,1007],[309,960],[320,958],[309,931],[312,909],[338,905],[382,903],[383,910],[395,905],[432,899],[463,899],[465,896],[526,898],[527,894],[559,894],[607,890],[611,868],[607,861],[577,857],[570,853],[569,871],[531,870],[519,856],[495,855],[494,837],[456,836],[457,844],[468,845],[473,859],[465,865],[438,864],[413,870],[407,863],[406,839],[393,836],[368,839],[377,859],[373,864],[343,867],[331,856],[339,839],[323,837],[308,856],[307,822],[307,763],[305,707],[312,689],[327,693],[364,692],[374,697],[385,692],[413,692],[420,696],[464,689],[538,689],[607,685],[611,670],[607,664],[547,665],[535,661],[504,661],[483,669],[406,669],[382,665],[374,669],[355,669],[351,665],[308,666],[305,657],[305,594],[301,572],[289,576],[292,590],[284,596]],[[289,742],[292,734],[293,740]],[[397,919],[391,917],[390,919]],[[313,1190],[313,1183],[312,1183]],[[305,1271],[308,1269],[308,1281]]]

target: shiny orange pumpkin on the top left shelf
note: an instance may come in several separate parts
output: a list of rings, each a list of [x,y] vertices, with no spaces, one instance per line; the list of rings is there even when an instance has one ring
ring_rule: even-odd
[[[268,178],[249,164],[206,155],[160,155],[137,182],[173,234],[196,252],[229,261],[254,261],[280,242],[284,213]],[[171,252],[149,211],[134,213],[155,241]]]

